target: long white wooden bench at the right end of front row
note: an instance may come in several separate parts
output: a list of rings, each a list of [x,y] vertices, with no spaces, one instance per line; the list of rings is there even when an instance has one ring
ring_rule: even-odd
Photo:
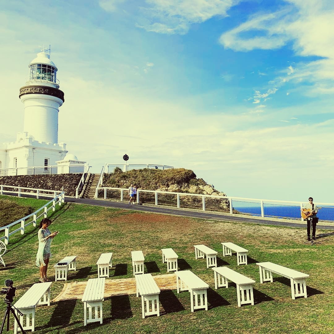
[[[273,273],[284,276],[290,279],[291,284],[291,297],[296,299],[296,297],[304,296],[307,298],[306,292],[306,278],[310,275],[301,273],[299,271],[276,265],[272,262],[261,262],[257,263],[260,270],[260,282],[273,282]]]

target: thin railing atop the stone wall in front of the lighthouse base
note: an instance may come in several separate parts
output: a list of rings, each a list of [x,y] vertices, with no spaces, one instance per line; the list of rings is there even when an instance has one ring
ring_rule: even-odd
[[[82,173],[85,170],[86,164],[71,164],[68,167],[70,174]],[[31,166],[31,167],[16,167],[16,168],[1,168],[0,176],[14,175],[41,175],[41,174],[58,174],[58,168],[61,170],[64,166],[49,165],[49,166]]]

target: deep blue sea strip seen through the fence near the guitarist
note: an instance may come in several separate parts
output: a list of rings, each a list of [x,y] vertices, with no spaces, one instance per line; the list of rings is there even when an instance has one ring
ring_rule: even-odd
[[[239,212],[249,213],[254,216],[261,217],[261,206],[234,206],[233,208]],[[264,206],[265,217],[272,218],[295,218],[300,219],[300,207],[299,206],[288,206],[288,205],[265,205]],[[322,207],[318,211],[317,217],[319,220],[334,221],[334,208],[333,207]]]

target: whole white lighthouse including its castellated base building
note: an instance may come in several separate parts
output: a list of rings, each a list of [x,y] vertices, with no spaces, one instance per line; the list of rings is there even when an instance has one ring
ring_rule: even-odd
[[[66,157],[66,144],[58,143],[58,112],[64,102],[56,78],[57,67],[45,49],[29,64],[29,76],[20,88],[24,104],[23,132],[15,142],[0,144],[0,175],[64,173],[69,164],[83,164]],[[76,157],[75,157],[76,158]],[[61,168],[48,168],[50,165]],[[32,168],[42,166],[42,168]],[[45,167],[44,167],[45,166]]]

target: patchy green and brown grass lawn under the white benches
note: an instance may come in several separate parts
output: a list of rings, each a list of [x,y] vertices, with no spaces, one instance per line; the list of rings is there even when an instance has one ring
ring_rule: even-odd
[[[32,207],[46,201],[10,198]],[[29,204],[27,204],[29,202]],[[62,257],[77,255],[77,271],[68,272],[68,283],[97,277],[96,261],[101,253],[113,252],[110,279],[131,278],[131,251],[142,250],[145,272],[166,274],[161,248],[173,248],[179,269],[191,270],[210,286],[208,311],[190,311],[188,292],[162,291],[160,317],[142,319],[141,298],[114,296],[103,302],[103,324],[83,326],[83,303],[68,300],[37,307],[35,331],[39,333],[331,333],[333,324],[333,240],[331,230],[317,230],[319,238],[305,243],[306,230],[256,224],[142,213],[79,204],[61,206],[51,216],[50,230],[60,231],[51,245],[48,276],[54,280],[53,265]],[[38,281],[35,266],[38,227],[10,238],[4,255],[7,267],[0,267],[0,282],[10,278],[17,287],[16,297]],[[237,266],[236,256],[222,257],[220,242],[231,241],[246,249],[248,265]],[[218,266],[254,279],[255,305],[237,306],[235,284],[214,289],[214,275],[204,259],[195,260],[194,244],[218,251]],[[306,274],[308,298],[291,299],[290,281],[274,274],[274,282],[260,284],[257,262],[274,262]],[[51,285],[51,299],[63,288],[63,281]],[[0,304],[0,312],[5,304]],[[11,315],[10,328],[13,328]],[[30,332],[30,331],[28,331]]]

